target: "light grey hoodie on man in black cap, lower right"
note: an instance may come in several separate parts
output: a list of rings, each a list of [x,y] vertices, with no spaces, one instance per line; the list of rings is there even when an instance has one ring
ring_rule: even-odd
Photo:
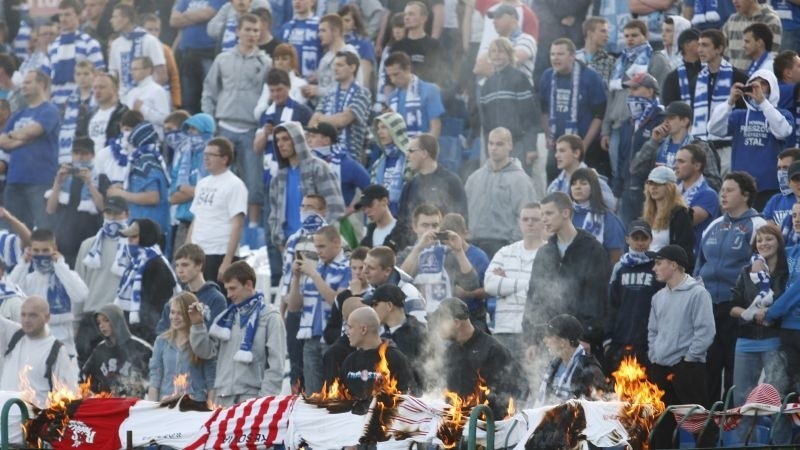
[[[701,282],[686,275],[675,289],[666,286],[653,296],[647,325],[650,362],[705,362],[715,334],[711,294]]]

